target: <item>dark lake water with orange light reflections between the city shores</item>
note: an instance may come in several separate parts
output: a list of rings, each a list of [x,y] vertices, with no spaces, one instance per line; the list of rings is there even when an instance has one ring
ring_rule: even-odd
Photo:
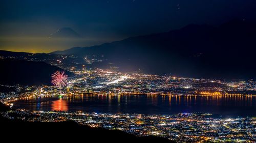
[[[61,99],[45,97],[19,100],[14,102],[14,107],[108,113],[207,112],[228,116],[256,116],[256,96],[83,95],[64,96]]]

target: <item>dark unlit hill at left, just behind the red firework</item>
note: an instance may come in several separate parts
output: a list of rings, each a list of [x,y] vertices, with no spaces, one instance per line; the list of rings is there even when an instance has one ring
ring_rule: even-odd
[[[62,69],[44,62],[31,62],[23,60],[0,60],[0,84],[7,85],[51,85],[51,75]],[[66,71],[71,76],[72,72]]]

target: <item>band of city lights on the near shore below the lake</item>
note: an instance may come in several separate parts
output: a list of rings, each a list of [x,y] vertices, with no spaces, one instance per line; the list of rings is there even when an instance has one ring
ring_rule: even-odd
[[[56,109],[56,108],[55,108]],[[58,108],[60,109],[60,108]],[[212,118],[210,114],[180,113],[177,115],[141,115],[85,113],[64,111],[2,112],[2,116],[30,122],[60,122],[71,120],[91,127],[122,130],[139,136],[157,135],[176,141],[253,142],[255,118]],[[12,115],[12,116],[11,116]]]

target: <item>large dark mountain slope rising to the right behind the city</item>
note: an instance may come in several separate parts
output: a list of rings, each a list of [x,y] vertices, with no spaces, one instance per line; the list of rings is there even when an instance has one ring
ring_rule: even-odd
[[[151,74],[189,77],[255,78],[255,39],[255,23],[233,20],[218,27],[190,24],[166,33],[52,53],[104,56],[108,63],[101,64],[102,68],[117,66],[121,71],[140,69]]]

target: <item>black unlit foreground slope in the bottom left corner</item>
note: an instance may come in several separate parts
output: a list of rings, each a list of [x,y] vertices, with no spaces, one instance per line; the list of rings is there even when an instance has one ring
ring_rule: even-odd
[[[0,103],[0,111],[8,107]],[[120,130],[92,128],[72,121],[65,122],[26,122],[0,117],[2,136],[15,136],[19,141],[83,141],[83,142],[175,142],[157,136],[138,137]]]

